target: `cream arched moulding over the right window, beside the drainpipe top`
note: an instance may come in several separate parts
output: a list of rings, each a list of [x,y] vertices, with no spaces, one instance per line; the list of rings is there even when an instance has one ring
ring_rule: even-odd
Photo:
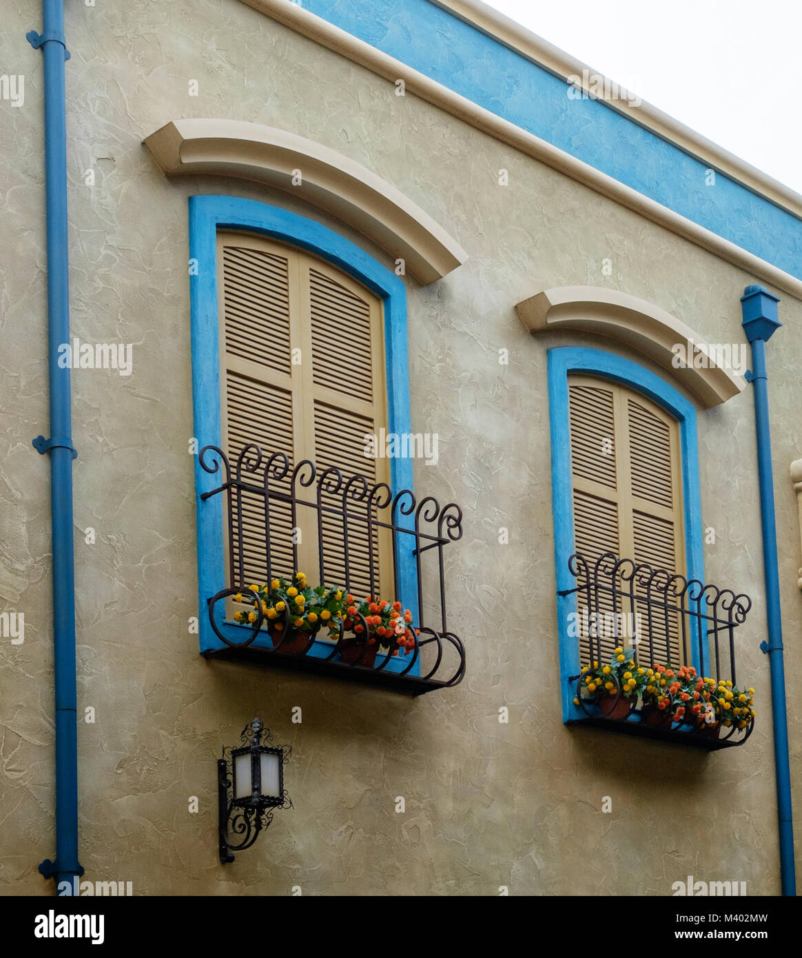
[[[518,316],[532,333],[547,330],[593,332],[649,356],[681,382],[705,406],[716,406],[745,387],[745,379],[707,343],[665,309],[616,289],[562,286],[518,303]],[[681,348],[680,350],[677,347]],[[684,365],[685,357],[704,354],[705,365]],[[676,365],[678,358],[682,362]]]

